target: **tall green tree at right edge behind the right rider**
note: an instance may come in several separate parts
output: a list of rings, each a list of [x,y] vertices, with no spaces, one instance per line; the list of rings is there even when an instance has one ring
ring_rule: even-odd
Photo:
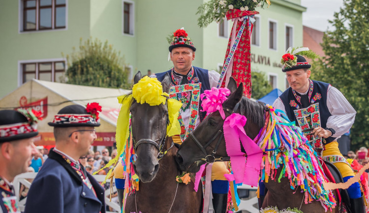
[[[314,62],[315,80],[338,88],[357,111],[351,129],[352,150],[369,146],[369,5],[368,0],[344,0],[330,21],[321,44],[326,56]]]

